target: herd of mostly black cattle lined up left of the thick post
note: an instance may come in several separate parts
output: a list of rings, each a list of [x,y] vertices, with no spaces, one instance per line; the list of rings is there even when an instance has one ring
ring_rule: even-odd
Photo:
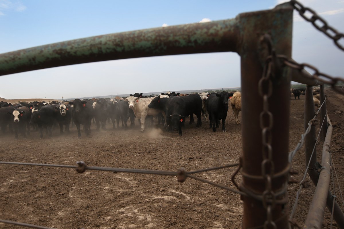
[[[232,98],[233,96],[233,98]],[[237,124],[238,114],[241,110],[241,93],[196,93],[180,94],[166,92],[158,96],[144,97],[142,93],[131,94],[126,98],[115,99],[75,99],[62,103],[31,102],[11,104],[0,102],[0,128],[3,134],[14,133],[18,139],[21,134],[24,139],[30,134],[30,130],[39,130],[40,138],[43,138],[43,129],[47,137],[52,137],[52,127],[59,126],[60,133],[69,132],[69,125],[75,124],[78,138],[81,137],[80,125],[83,125],[86,136],[90,135],[92,121],[96,123],[97,130],[106,128],[107,121],[112,122],[112,128],[127,129],[127,121],[130,126],[135,126],[135,118],[141,125],[141,131],[153,118],[158,119],[158,124],[163,124],[168,131],[178,131],[183,135],[182,127],[185,119],[190,117],[189,124],[194,123],[197,117],[196,127],[202,125],[209,118],[209,128],[215,132],[222,123],[222,131],[225,129],[225,120],[229,104]],[[232,98],[232,99],[230,99]]]

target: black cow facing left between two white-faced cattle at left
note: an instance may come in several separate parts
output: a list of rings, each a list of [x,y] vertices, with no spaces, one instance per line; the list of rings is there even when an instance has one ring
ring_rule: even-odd
[[[43,128],[46,130],[49,138],[52,137],[52,126],[54,124],[54,106],[42,106],[39,111],[31,114],[30,124],[36,124],[40,130],[40,139],[43,138]]]

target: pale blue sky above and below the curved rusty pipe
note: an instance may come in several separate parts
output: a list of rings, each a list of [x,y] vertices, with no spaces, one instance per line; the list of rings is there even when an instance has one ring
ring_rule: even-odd
[[[0,0],[0,53],[163,24],[230,19],[280,2]],[[344,32],[344,0],[300,2]],[[344,76],[344,52],[295,11],[292,56]],[[0,85],[0,97],[6,99],[240,87],[240,60],[236,53],[213,53],[104,61],[2,76]]]

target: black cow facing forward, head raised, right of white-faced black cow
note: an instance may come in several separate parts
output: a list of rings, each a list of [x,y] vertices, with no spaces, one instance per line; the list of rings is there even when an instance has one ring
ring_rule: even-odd
[[[78,138],[81,138],[80,124],[84,126],[85,133],[88,137],[91,133],[91,121],[94,112],[92,104],[88,101],[81,101],[79,99],[75,99],[73,102],[69,102],[69,104],[74,105],[72,117],[78,130]]]

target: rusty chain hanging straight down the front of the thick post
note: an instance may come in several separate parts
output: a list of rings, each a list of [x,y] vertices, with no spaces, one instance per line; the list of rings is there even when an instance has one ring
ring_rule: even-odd
[[[271,38],[268,34],[265,34],[262,38],[262,42],[268,45],[270,55],[276,57],[275,50],[272,49]],[[277,229],[276,223],[272,219],[272,211],[276,205],[276,195],[272,191],[272,177],[275,170],[275,164],[272,161],[272,126],[273,126],[273,115],[269,111],[268,99],[272,95],[272,66],[275,62],[272,58],[267,58],[263,74],[258,82],[258,93],[263,99],[263,110],[260,113],[260,128],[262,135],[262,162],[261,162],[261,175],[265,180],[265,191],[262,194],[262,204],[266,209],[267,219],[264,223],[264,229],[274,228]],[[267,122],[266,122],[267,121]]]

